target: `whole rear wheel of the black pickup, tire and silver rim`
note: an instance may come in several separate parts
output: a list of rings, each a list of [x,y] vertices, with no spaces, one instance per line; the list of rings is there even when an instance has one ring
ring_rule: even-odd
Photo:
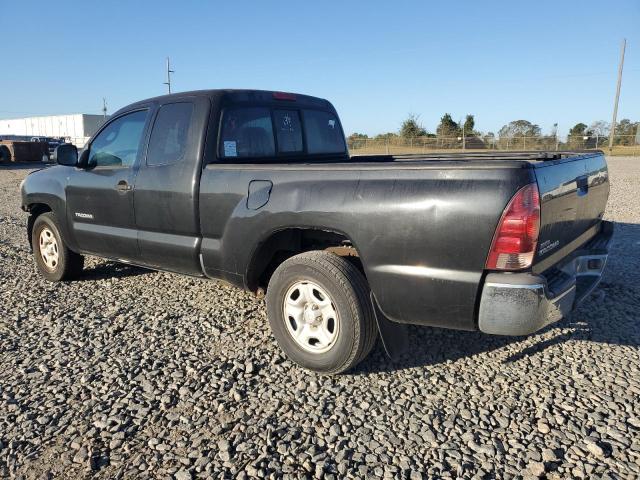
[[[280,264],[267,288],[267,313],[280,348],[320,373],[353,368],[377,338],[367,281],[333,253],[301,253]]]

